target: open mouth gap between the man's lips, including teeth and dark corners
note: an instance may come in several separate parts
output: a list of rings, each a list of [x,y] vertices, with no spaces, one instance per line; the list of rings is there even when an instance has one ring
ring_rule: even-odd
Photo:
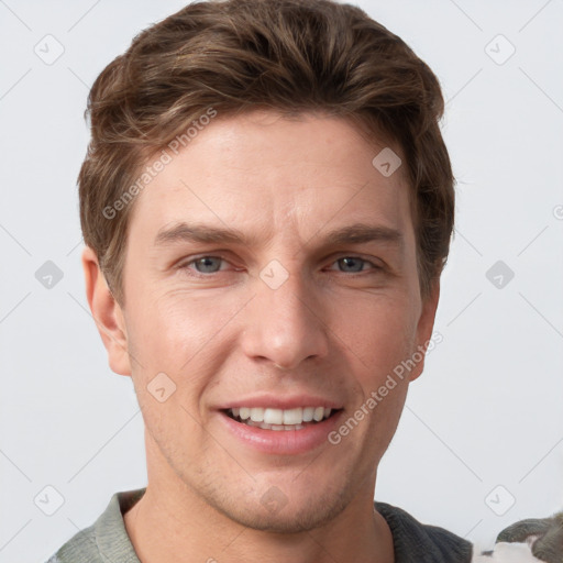
[[[241,424],[263,430],[302,430],[320,424],[335,416],[342,409],[323,407],[299,407],[295,409],[232,408],[222,410],[229,418]]]

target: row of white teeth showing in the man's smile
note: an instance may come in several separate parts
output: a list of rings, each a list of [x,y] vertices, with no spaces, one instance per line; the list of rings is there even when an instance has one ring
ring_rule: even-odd
[[[262,407],[240,407],[231,409],[234,418],[246,421],[250,426],[272,427],[268,430],[284,430],[285,427],[294,430],[303,422],[329,418],[332,409],[324,407],[297,407],[294,409],[272,409]],[[274,428],[277,427],[277,428]]]

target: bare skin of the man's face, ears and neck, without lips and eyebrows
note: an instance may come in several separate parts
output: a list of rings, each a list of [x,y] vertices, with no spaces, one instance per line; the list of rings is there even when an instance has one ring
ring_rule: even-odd
[[[85,250],[110,366],[132,377],[145,422],[147,490],[124,516],[143,563],[394,561],[374,512],[377,465],[423,361],[338,445],[298,455],[241,444],[214,410],[303,393],[340,401],[345,420],[430,340],[439,284],[423,301],[402,169],[384,177],[372,165],[384,146],[320,114],[219,115],[136,197],[124,303]],[[181,221],[256,240],[155,243]],[[395,229],[402,244],[323,246],[357,222]],[[343,260],[354,256],[366,262]],[[273,260],[288,274],[277,289],[260,277]],[[176,391],[159,402],[146,387],[163,372]],[[271,512],[261,498],[274,486],[287,504]]]

